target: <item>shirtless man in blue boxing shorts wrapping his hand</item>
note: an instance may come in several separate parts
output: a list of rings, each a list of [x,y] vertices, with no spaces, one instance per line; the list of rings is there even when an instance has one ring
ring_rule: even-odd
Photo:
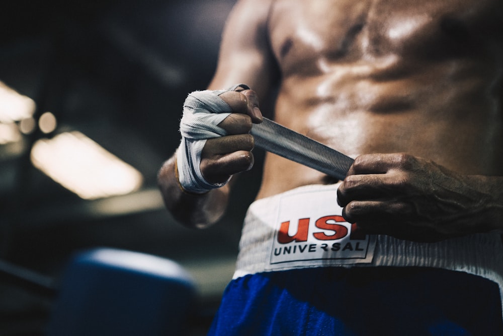
[[[424,330],[434,333],[432,330],[437,329],[432,325],[437,325],[438,330],[454,325],[452,330],[461,330],[459,334],[501,332],[498,288],[503,285],[499,237],[503,232],[502,26],[503,3],[498,0],[237,3],[224,31],[217,71],[209,90],[222,90],[237,83],[245,83],[253,90],[238,87],[220,95],[235,113],[219,124],[227,135],[209,139],[202,150],[199,167],[206,181],[224,183],[229,176],[251,168],[253,137],[248,131],[251,122],[261,122],[259,101],[265,99],[277,81],[274,119],[356,160],[346,179],[334,184],[337,181],[322,173],[273,154],[266,155],[255,210],[250,208],[247,216],[255,219],[245,221],[238,272],[222,301],[212,329],[215,333],[227,330],[224,333],[278,334],[289,325],[289,334],[316,334],[319,330],[326,334],[331,334],[328,330],[381,334],[384,329],[379,328],[386,326],[379,326],[368,317],[382,317],[376,311],[380,309],[390,314],[403,312],[400,318],[394,315],[385,319],[387,326],[395,325],[390,330],[396,333],[388,334],[423,334]],[[225,211],[232,183],[209,191],[186,192],[177,178],[177,165],[180,170],[175,155],[159,172],[167,208],[191,227],[202,228],[216,222]],[[347,221],[346,229],[337,216],[329,217],[332,221],[320,217],[325,218],[324,222],[316,221],[313,226],[311,222],[318,213],[311,216],[311,210],[306,210],[311,222],[300,217],[282,222],[286,198],[278,197],[287,195],[295,207],[304,207],[303,202],[294,199],[302,192],[309,192],[309,198],[312,195],[313,199],[326,199],[311,193],[313,188],[337,194],[337,202],[336,197],[330,201],[342,207],[340,215]],[[267,217],[264,209],[269,212],[271,207],[275,214]],[[330,211],[326,215],[335,214]],[[267,225],[261,226],[264,218],[278,221],[269,223],[276,225],[270,229],[272,233],[265,231]],[[297,230],[288,230],[297,221]],[[280,222],[286,229],[280,227]],[[356,225],[349,224],[355,222]],[[360,231],[358,239],[362,244],[347,245],[350,241],[342,240],[337,245],[339,240],[330,240],[337,233],[334,223],[346,231],[361,229],[366,234],[362,237]],[[305,229],[302,232],[301,227]],[[323,236],[317,237],[330,244],[312,243],[313,229]],[[309,241],[305,239],[308,234]],[[282,242],[280,236],[284,238]],[[336,238],[349,239],[349,234],[346,236]],[[294,260],[291,254],[286,255],[286,250],[281,250],[286,243],[296,243],[297,256],[304,259]],[[312,255],[316,251],[325,254],[303,257],[311,245]],[[342,252],[342,246],[349,249],[346,257],[337,254]],[[351,254],[363,249],[364,257]],[[250,261],[254,258],[265,260]],[[428,275],[422,275],[421,270]],[[261,290],[251,283],[257,274],[263,276],[257,285]],[[393,282],[397,278],[406,279],[404,287],[408,291],[397,289],[401,288]],[[288,283],[288,279],[295,279],[298,284]],[[314,286],[323,288],[322,294],[305,296],[298,290],[299,284],[305,284],[303,279],[310,281],[306,283],[309,287],[319,279],[331,280]],[[352,287],[355,279],[359,284],[356,289]],[[366,286],[376,279],[381,286],[379,291],[389,288],[397,292],[373,297]],[[412,282],[407,283],[409,280]],[[477,283],[471,283],[472,280]],[[247,283],[244,285],[243,281]],[[430,282],[427,287],[433,287],[433,292],[410,288],[422,282]],[[467,298],[471,290],[453,289],[457,283],[469,283],[466,286],[478,294]],[[278,288],[295,299],[264,299],[264,291],[272,295]],[[452,292],[444,295],[442,291],[447,290]],[[350,297],[361,291],[365,298],[381,300],[380,305],[371,305],[366,311],[352,306],[354,303],[347,296],[325,297],[332,304],[319,298],[341,291]],[[410,297],[414,294],[410,292],[416,292],[425,302],[430,296],[432,300],[438,297],[440,302],[415,305],[417,300]],[[400,306],[394,311],[382,308],[393,305],[385,301],[392,300],[393,295]],[[461,295],[463,303],[456,301]],[[483,298],[485,307],[478,306],[477,296]],[[254,301],[257,297],[262,301]],[[452,301],[452,305],[444,307],[446,301]],[[274,302],[274,308],[266,308],[266,302]],[[299,302],[307,304],[304,310],[296,310]],[[334,307],[340,305],[347,309]],[[449,315],[444,322],[439,322],[444,317],[437,315],[411,317],[420,310],[430,314],[435,310],[433,306],[443,307],[439,308],[439,316]],[[462,313],[456,308],[460,306],[464,308]],[[313,307],[318,313],[313,312]],[[349,316],[348,309],[360,317]],[[286,315],[290,315],[290,320]],[[253,323],[246,325],[243,321],[247,319]],[[397,326],[400,319],[403,325]],[[318,329],[309,331],[307,320],[322,322],[312,324]],[[264,323],[272,326],[266,328]],[[370,323],[372,328],[365,329]],[[407,329],[407,325],[412,329]]]

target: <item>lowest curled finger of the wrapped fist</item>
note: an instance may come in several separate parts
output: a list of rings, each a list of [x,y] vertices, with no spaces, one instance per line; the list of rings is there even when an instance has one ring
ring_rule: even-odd
[[[223,183],[231,175],[251,169],[254,156],[249,151],[237,151],[218,158],[201,160],[201,173],[210,183]]]

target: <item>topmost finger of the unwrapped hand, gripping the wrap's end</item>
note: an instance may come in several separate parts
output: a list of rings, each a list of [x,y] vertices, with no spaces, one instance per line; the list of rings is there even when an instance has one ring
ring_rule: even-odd
[[[395,154],[365,154],[355,159],[348,175],[383,174],[391,169],[409,170],[417,160],[405,153]]]

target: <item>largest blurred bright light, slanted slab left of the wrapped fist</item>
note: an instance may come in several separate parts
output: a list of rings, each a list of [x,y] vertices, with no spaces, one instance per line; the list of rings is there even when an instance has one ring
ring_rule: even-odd
[[[32,163],[65,188],[84,199],[121,195],[138,190],[143,177],[78,131],[38,140]]]

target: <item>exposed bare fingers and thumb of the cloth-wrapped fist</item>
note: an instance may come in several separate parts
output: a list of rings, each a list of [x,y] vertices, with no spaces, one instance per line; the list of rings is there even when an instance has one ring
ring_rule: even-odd
[[[254,156],[252,123],[262,122],[259,100],[253,90],[229,91],[220,97],[233,112],[218,125],[228,136],[208,139],[201,153],[201,173],[210,183],[222,183],[229,176],[251,169]]]

